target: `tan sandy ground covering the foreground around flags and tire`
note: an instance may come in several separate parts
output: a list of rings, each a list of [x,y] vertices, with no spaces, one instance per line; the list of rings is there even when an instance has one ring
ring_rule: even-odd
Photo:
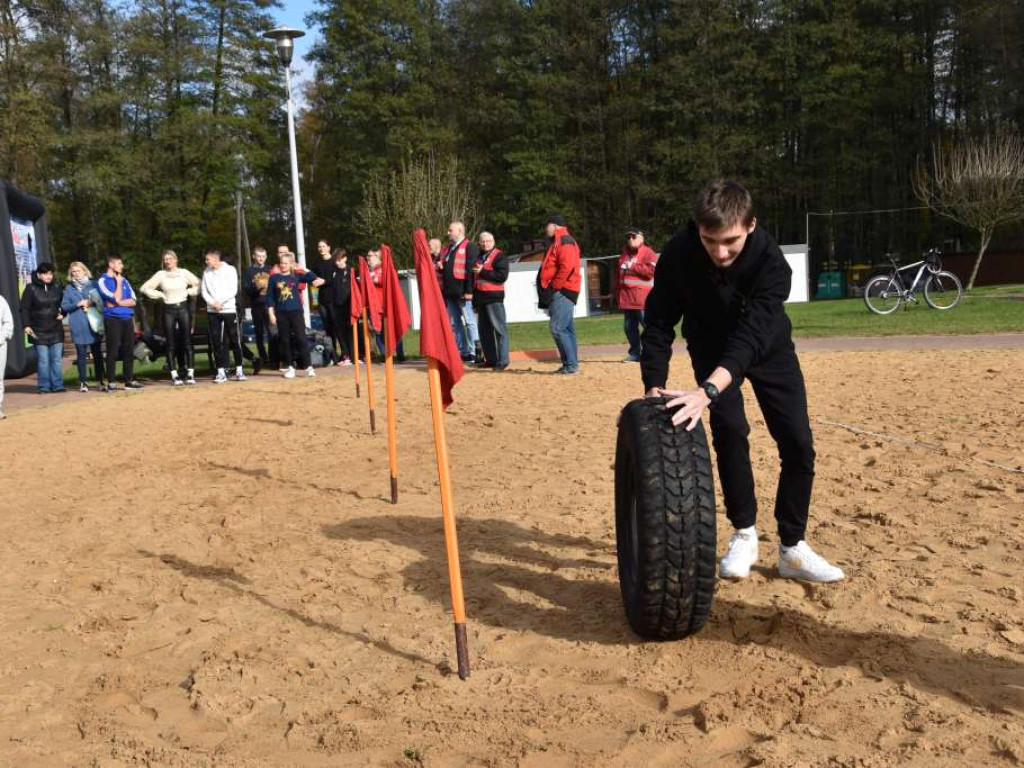
[[[675,643],[639,641],[618,596],[636,368],[468,374],[447,419],[467,682],[422,370],[397,375],[397,506],[345,378],[15,412],[0,764],[1024,765],[1024,350],[803,364],[809,537],[848,581],[778,579],[769,538]],[[770,534],[774,449],[749,414]]]

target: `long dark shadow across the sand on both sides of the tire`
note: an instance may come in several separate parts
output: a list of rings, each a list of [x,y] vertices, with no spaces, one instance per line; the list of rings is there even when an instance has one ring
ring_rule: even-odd
[[[449,607],[439,519],[362,517],[326,525],[324,534],[329,539],[384,542],[419,552],[422,557],[401,572],[406,584]],[[480,518],[459,521],[459,543],[471,622],[564,640],[640,642],[626,624],[613,574],[614,549],[608,543]],[[718,598],[708,627],[685,642],[757,643],[816,667],[856,667],[868,677],[907,682],[989,712],[1024,712],[1024,666],[1014,659],[964,653],[928,637],[837,627],[788,607]],[[681,643],[680,652],[685,648]]]

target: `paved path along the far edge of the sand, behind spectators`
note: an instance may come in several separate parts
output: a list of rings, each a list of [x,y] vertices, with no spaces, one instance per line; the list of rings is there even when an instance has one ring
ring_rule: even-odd
[[[797,349],[800,352],[838,352],[855,351],[859,349],[1024,349],[1024,333],[1020,334],[978,334],[971,336],[837,336],[826,339],[797,339]],[[580,348],[580,357],[586,362],[588,359],[600,359],[607,357],[618,357],[626,352],[626,344],[605,344],[600,346],[586,346]],[[675,346],[676,354],[685,354],[686,347],[682,343]],[[535,349],[526,351],[512,352],[513,360],[534,360],[550,361],[558,359],[558,352],[554,349]],[[411,360],[399,368],[418,368],[422,362]],[[317,369],[317,376],[352,376],[351,368],[328,368]],[[264,371],[259,378],[275,376],[275,372]],[[301,374],[300,374],[301,375]],[[252,378],[252,377],[250,377]],[[59,402],[80,400],[83,397],[102,397],[96,389],[84,394],[75,391],[68,391],[59,394],[37,394],[36,378],[8,380],[6,384],[6,394],[4,396],[4,411],[7,414],[26,408],[39,408],[42,406],[53,406]],[[169,387],[170,381],[155,381],[148,385],[151,388]],[[202,377],[199,386],[213,386],[210,377]],[[245,386],[244,383],[228,382],[221,385],[224,387]],[[121,390],[123,393],[125,390]],[[144,397],[146,390],[130,392],[134,397]]]

